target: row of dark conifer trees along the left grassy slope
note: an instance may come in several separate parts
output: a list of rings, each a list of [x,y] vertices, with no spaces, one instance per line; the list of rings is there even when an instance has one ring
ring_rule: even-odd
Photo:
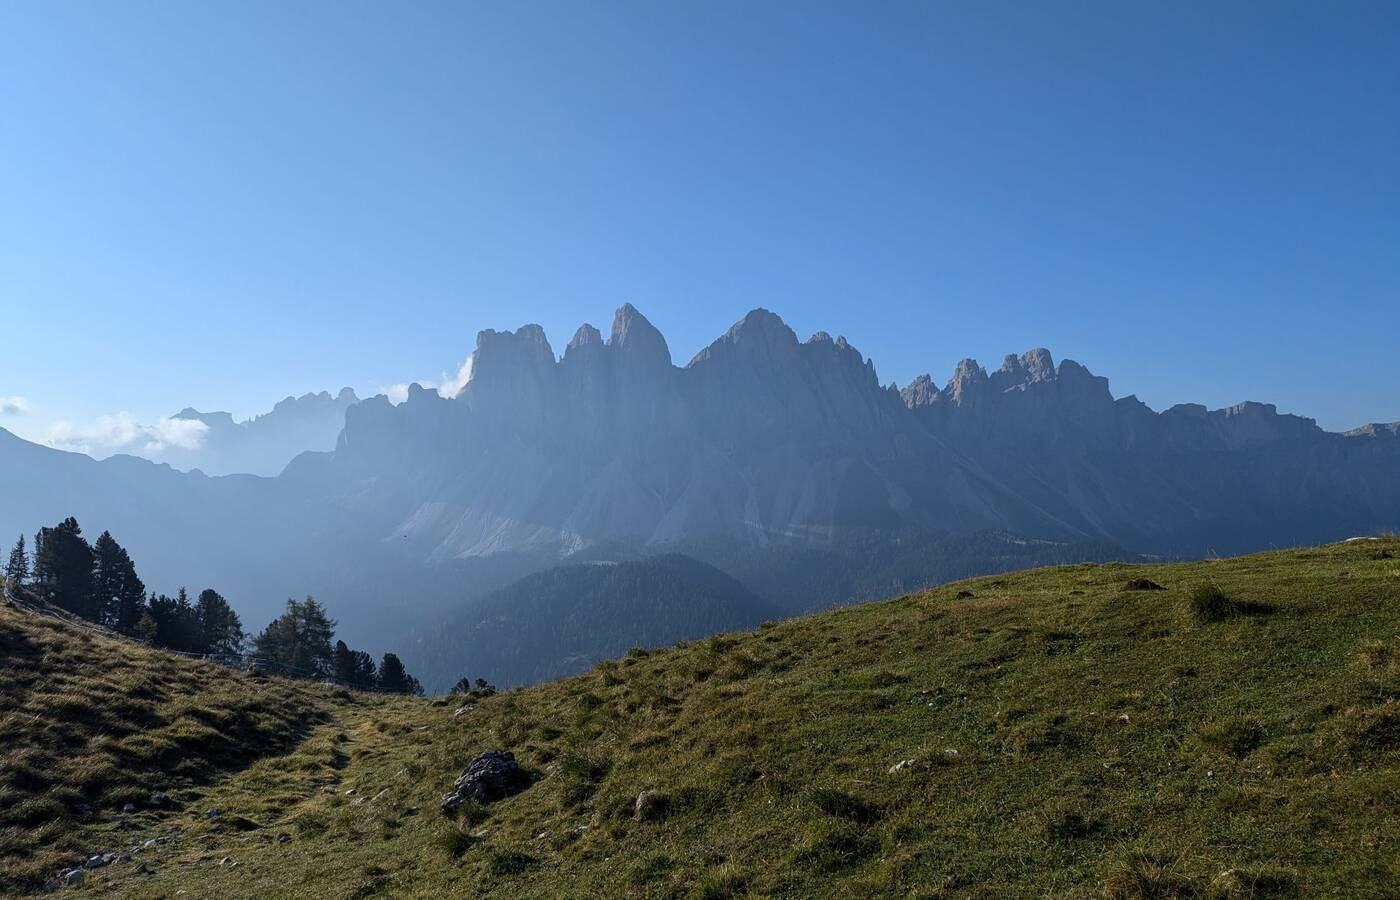
[[[370,654],[350,649],[344,641],[332,642],[336,623],[314,598],[288,599],[281,616],[248,635],[238,613],[213,588],[193,600],[185,588],[175,596],[147,593],[130,554],[112,533],[102,532],[88,543],[73,516],[41,528],[32,546],[21,535],[4,575],[17,589],[164,649],[358,690],[423,693],[396,655],[385,654],[375,665]]]

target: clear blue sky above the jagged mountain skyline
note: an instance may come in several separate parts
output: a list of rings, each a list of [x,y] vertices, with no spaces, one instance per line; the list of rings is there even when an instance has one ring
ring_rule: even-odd
[[[0,426],[437,379],[631,301],[1400,420],[1396,3],[0,4]]]

